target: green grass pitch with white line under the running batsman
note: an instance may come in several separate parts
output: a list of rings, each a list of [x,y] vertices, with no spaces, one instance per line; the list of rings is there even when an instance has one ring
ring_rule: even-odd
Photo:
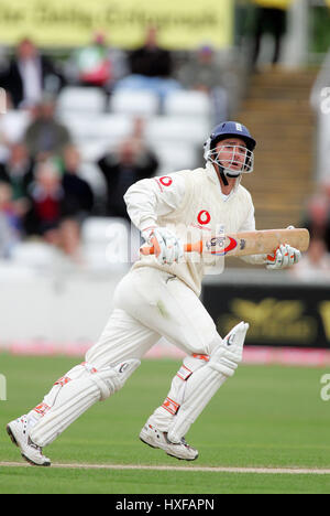
[[[82,359],[82,358],[81,358]],[[0,401],[0,463],[22,462],[6,424],[42,401],[52,384],[81,361],[0,354],[7,401]],[[176,461],[139,440],[141,427],[165,398],[179,363],[144,361],[124,388],[99,402],[45,453],[56,464],[169,466],[86,470],[0,465],[0,493],[330,493],[330,475],[201,472],[201,466],[330,467],[330,401],[320,397],[321,368],[241,366],[191,427],[199,449]],[[177,470],[188,465],[189,471]],[[195,470],[195,471],[194,471]]]

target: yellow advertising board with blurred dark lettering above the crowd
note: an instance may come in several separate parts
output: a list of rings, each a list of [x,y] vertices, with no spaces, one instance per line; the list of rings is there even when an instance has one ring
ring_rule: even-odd
[[[76,46],[103,31],[123,49],[142,43],[145,29],[160,29],[168,49],[200,43],[229,46],[233,37],[233,0],[1,0],[0,44],[30,36],[38,45]]]

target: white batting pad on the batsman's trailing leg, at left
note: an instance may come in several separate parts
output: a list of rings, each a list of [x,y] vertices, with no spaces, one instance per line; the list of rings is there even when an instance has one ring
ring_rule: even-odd
[[[32,441],[42,448],[51,444],[92,405],[121,389],[139,366],[140,361],[129,359],[98,370],[88,363],[70,369],[34,409],[41,417],[30,431]]]

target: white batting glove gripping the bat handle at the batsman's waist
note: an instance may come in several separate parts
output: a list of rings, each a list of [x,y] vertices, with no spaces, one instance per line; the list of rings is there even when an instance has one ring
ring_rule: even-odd
[[[166,227],[154,228],[146,240],[154,246],[155,257],[161,265],[176,264],[184,256],[182,240]]]

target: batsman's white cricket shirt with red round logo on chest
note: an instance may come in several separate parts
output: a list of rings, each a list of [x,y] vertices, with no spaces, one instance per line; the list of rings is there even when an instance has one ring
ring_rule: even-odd
[[[166,226],[184,243],[213,235],[220,227],[224,233],[255,230],[254,206],[248,190],[238,179],[232,192],[223,195],[217,172],[209,162],[205,169],[139,181],[128,190],[124,201],[131,221],[141,232]],[[265,257],[250,256],[244,260],[264,264]],[[199,295],[207,268],[217,265],[218,257],[191,252],[185,255],[183,262],[170,266],[160,265],[154,256],[142,256],[133,268],[147,266],[173,273]]]

